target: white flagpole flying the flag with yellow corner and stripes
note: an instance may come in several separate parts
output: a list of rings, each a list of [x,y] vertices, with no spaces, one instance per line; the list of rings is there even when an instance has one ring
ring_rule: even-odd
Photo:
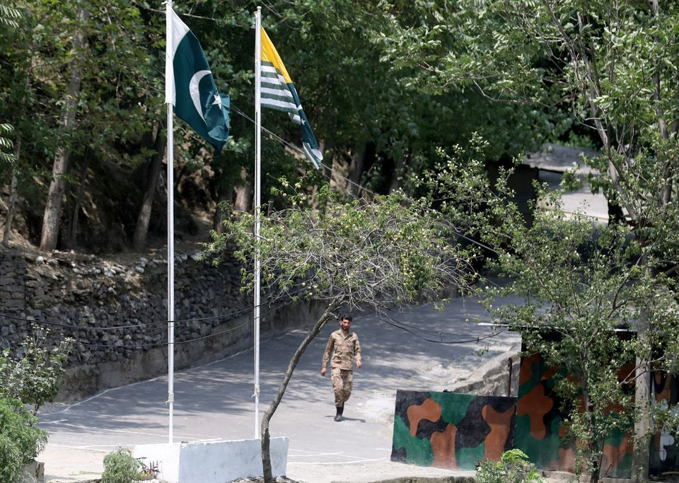
[[[260,239],[262,156],[262,7],[255,13],[255,240]],[[260,249],[255,250],[255,439],[260,438]]]

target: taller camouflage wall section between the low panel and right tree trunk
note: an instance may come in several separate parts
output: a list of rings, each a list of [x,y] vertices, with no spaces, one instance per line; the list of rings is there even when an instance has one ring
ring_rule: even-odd
[[[576,446],[565,438],[562,402],[553,392],[555,373],[538,354],[521,358],[514,443],[542,470],[574,472]],[[629,433],[622,431],[605,441],[602,477],[629,478],[632,446],[628,442]]]

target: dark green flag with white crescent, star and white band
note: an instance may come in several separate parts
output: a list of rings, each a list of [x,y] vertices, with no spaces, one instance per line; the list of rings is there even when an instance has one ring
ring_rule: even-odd
[[[165,101],[219,153],[228,139],[228,95],[217,91],[198,39],[171,8],[167,28]]]

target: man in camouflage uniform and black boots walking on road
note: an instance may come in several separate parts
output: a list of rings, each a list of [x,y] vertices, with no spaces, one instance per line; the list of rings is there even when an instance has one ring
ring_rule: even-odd
[[[323,352],[323,367],[320,368],[320,375],[325,376],[327,361],[330,360],[330,352],[335,349],[330,363],[330,380],[332,388],[335,390],[335,421],[342,421],[344,412],[344,402],[352,395],[352,379],[354,376],[354,357],[356,357],[356,367],[361,368],[361,345],[356,332],[349,332],[352,327],[352,317],[342,315],[340,318],[340,330],[335,330],[327,339],[325,352]]]

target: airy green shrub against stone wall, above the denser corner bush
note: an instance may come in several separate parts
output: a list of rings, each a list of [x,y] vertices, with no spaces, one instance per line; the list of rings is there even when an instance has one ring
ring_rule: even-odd
[[[70,340],[47,349],[49,330],[33,326],[33,334],[21,344],[22,356],[12,357],[5,349],[0,355],[0,395],[33,405],[33,414],[59,395]]]

